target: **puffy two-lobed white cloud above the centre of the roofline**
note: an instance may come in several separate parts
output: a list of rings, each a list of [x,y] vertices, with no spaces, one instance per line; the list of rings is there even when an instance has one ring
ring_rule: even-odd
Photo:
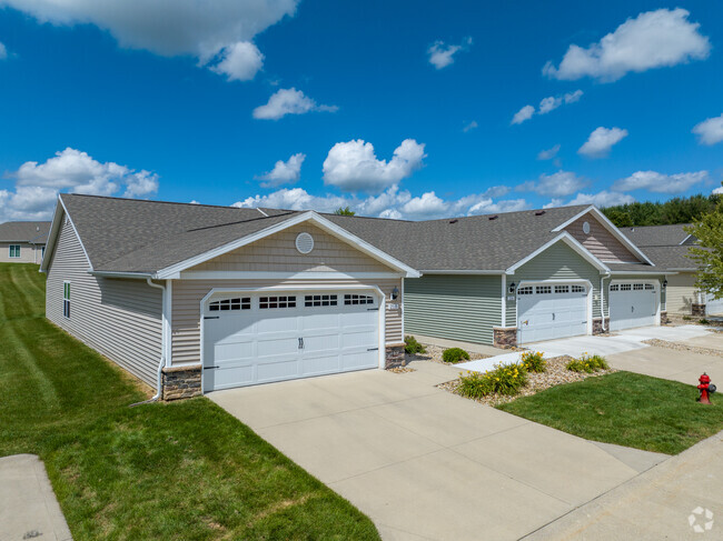
[[[424,143],[405,139],[388,162],[378,160],[374,146],[361,139],[339,142],[324,160],[324,183],[345,191],[378,192],[409,177],[423,166]]]

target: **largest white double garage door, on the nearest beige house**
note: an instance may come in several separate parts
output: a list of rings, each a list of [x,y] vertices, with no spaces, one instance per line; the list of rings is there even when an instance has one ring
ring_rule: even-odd
[[[204,313],[204,391],[379,365],[369,291],[238,293]]]

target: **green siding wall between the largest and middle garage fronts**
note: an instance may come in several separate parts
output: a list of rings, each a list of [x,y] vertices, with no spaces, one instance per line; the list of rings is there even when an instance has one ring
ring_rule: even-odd
[[[426,274],[404,281],[404,329],[475,343],[493,343],[502,320],[502,277]]]

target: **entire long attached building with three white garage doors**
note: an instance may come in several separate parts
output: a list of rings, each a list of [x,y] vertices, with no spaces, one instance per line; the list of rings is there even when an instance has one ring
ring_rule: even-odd
[[[594,207],[409,222],[61,194],[48,318],[166,399],[666,319],[654,264]]]

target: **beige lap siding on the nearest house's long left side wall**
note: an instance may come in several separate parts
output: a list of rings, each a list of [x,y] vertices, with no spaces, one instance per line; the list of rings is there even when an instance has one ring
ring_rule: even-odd
[[[80,341],[145,382],[156,384],[161,355],[161,291],[140,280],[92,277],[69,222],[59,233],[48,269],[46,315]],[[70,319],[63,317],[63,281]]]

